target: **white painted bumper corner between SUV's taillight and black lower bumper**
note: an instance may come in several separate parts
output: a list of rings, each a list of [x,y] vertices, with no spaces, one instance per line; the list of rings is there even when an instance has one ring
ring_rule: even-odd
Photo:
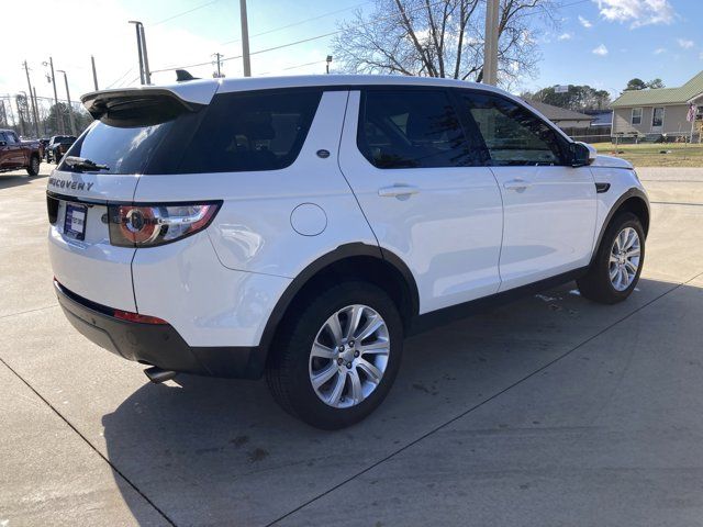
[[[203,232],[137,249],[133,273],[138,312],[164,318],[190,346],[257,346],[291,282],[225,268]]]

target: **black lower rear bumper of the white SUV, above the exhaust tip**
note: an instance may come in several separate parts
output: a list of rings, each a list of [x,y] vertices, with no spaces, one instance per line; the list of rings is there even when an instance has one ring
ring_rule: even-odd
[[[54,282],[58,303],[72,326],[98,346],[127,360],[164,370],[200,375],[258,379],[265,354],[259,347],[192,347],[168,324],[115,318],[96,304]]]

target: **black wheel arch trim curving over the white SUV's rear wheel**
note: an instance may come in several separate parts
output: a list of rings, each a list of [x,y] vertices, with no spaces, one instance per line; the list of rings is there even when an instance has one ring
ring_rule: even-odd
[[[360,242],[344,244],[338,246],[336,249],[321,256],[308,267],[305,267],[305,269],[303,269],[303,271],[293,279],[288,288],[286,288],[286,291],[283,291],[283,294],[280,296],[280,299],[278,299],[278,302],[276,303],[276,306],[274,307],[274,311],[271,312],[266,323],[266,327],[264,328],[264,334],[261,335],[261,339],[259,341],[259,348],[264,350],[264,354],[261,355],[268,355],[268,350],[274,340],[274,336],[276,334],[278,325],[283,319],[283,315],[293,299],[305,287],[305,284],[320,271],[331,266],[332,264],[356,256],[369,256],[372,258],[378,258],[381,261],[390,264],[397,271],[399,271],[403,277],[403,280],[405,281],[408,291],[410,292],[412,316],[414,317],[417,315],[420,311],[420,293],[417,292],[417,284],[412,272],[398,255],[388,249],[382,249],[377,245],[369,245]],[[266,357],[263,357],[261,359],[264,360],[264,362],[261,363],[261,368],[264,368]]]

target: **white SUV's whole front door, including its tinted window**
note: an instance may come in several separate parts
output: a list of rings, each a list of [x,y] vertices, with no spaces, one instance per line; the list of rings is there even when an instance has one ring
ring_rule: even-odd
[[[587,266],[596,215],[590,168],[572,167],[568,141],[516,101],[480,91],[460,99],[503,197],[501,291]]]

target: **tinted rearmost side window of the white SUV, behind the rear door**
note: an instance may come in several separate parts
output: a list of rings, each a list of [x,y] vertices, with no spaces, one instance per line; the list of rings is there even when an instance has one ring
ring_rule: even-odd
[[[320,90],[222,93],[210,103],[179,172],[277,170],[300,153]]]

